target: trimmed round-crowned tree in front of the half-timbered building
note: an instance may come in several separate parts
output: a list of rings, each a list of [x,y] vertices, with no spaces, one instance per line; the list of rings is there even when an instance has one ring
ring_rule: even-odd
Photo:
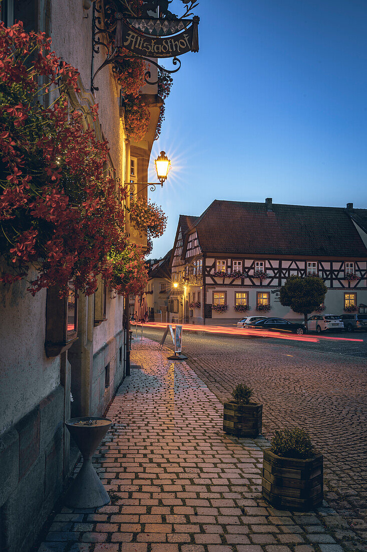
[[[317,276],[290,276],[280,288],[280,304],[303,314],[307,327],[307,316],[325,300],[327,287]]]

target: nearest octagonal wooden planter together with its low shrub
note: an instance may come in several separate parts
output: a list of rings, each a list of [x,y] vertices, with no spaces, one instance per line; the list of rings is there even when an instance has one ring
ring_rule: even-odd
[[[278,509],[306,511],[323,500],[323,457],[300,428],[274,432],[265,450],[262,495]]]

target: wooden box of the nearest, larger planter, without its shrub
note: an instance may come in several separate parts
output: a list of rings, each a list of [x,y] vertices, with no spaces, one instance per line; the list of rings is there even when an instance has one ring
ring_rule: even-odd
[[[265,450],[262,495],[278,509],[307,511],[323,500],[323,457],[283,458]]]

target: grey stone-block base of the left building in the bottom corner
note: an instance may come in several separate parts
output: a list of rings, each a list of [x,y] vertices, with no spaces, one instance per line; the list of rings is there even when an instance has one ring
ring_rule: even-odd
[[[62,491],[64,389],[0,437],[0,550],[30,550]]]

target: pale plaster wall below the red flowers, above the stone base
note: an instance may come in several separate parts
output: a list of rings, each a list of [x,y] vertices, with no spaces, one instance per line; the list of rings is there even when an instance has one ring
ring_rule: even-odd
[[[0,286],[0,434],[60,383],[60,357],[45,353],[46,290],[33,297],[26,287]]]

